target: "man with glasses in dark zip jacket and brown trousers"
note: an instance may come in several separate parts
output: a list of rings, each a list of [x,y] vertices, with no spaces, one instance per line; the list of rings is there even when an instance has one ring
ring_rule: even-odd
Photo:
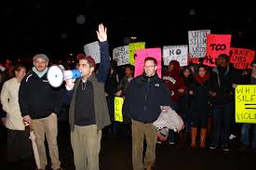
[[[158,77],[155,58],[144,59],[144,72],[128,85],[123,113],[132,119],[132,165],[134,170],[143,167],[151,170],[155,163],[156,127],[153,124],[161,106],[170,106],[167,85]],[[147,149],[142,163],[143,141]]]

